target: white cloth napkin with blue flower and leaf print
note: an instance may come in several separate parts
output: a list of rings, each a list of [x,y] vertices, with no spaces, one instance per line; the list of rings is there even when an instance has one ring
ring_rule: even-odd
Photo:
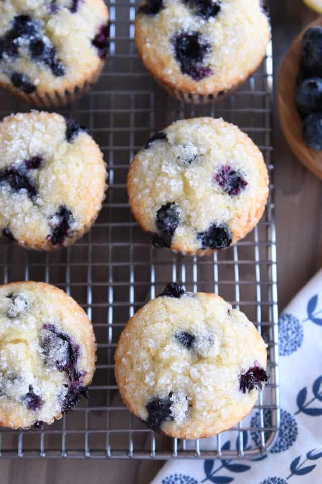
[[[267,456],[233,462],[170,460],[151,484],[322,483],[322,270],[280,316],[279,354],[281,425]],[[264,411],[264,425],[269,417]],[[252,440],[258,444],[259,433],[244,431],[244,447]],[[202,442],[208,449],[214,444],[211,438]],[[225,445],[229,448],[229,441]]]

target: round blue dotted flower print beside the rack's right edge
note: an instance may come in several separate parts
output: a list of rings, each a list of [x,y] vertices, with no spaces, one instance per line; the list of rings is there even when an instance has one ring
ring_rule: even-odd
[[[292,314],[282,314],[278,320],[279,354],[289,356],[302,346],[304,332],[299,319]]]

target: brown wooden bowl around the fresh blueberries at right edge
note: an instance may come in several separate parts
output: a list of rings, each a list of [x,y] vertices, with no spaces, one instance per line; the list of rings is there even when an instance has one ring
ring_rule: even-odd
[[[305,27],[285,54],[279,72],[277,102],[281,127],[291,150],[307,169],[322,179],[322,151],[313,150],[304,142],[303,123],[294,102],[294,91],[301,62],[302,37],[307,29],[315,25],[322,25],[322,16]]]

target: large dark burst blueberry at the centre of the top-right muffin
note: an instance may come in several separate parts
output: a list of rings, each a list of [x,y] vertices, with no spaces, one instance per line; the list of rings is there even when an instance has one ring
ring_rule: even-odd
[[[212,74],[209,66],[201,65],[204,57],[211,50],[210,44],[201,33],[179,31],[173,37],[173,44],[176,59],[183,74],[188,74],[195,81],[201,81]]]

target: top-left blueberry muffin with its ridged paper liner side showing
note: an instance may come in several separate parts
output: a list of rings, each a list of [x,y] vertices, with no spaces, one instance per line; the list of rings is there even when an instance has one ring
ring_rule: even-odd
[[[103,0],[2,0],[0,85],[37,106],[84,94],[108,48]]]

